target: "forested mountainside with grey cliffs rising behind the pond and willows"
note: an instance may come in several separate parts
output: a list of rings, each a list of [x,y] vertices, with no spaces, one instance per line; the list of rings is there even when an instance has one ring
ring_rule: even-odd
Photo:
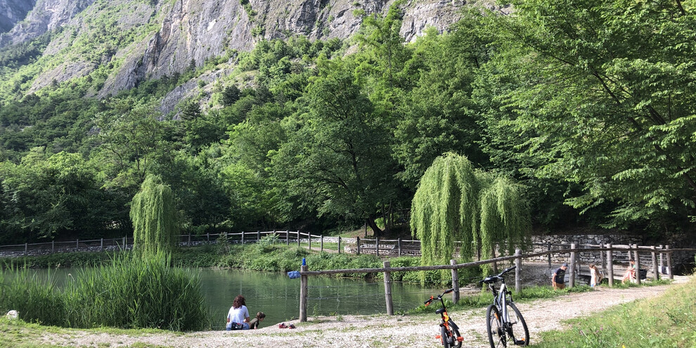
[[[150,175],[186,231],[379,234],[446,153],[537,231],[690,238],[692,4],[38,0],[1,39],[0,243],[129,233]]]

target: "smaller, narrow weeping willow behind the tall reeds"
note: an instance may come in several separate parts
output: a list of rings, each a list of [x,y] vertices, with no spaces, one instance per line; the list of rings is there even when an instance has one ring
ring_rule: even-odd
[[[174,247],[179,225],[176,221],[172,188],[159,176],[148,175],[131,201],[133,248],[141,256],[169,252]]]

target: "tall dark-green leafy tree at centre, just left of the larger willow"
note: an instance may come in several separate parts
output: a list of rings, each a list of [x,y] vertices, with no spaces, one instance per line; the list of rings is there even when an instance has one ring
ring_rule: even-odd
[[[352,67],[335,64],[308,87],[306,112],[285,122],[289,138],[273,157],[275,181],[320,215],[366,221],[379,236],[378,210],[396,197],[387,129]]]

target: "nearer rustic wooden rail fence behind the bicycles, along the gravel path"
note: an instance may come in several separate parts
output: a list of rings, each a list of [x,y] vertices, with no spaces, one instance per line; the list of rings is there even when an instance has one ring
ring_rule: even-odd
[[[539,257],[547,255],[550,253],[568,253],[570,255],[570,262],[568,262],[568,272],[569,273],[569,288],[575,286],[576,276],[579,276],[581,271],[581,262],[579,262],[578,254],[581,252],[599,252],[600,254],[606,255],[606,265],[602,264],[602,268],[605,269],[607,274],[607,279],[609,285],[614,285],[614,252],[616,253],[627,253],[631,259],[636,261],[636,269],[640,270],[640,254],[648,253],[650,254],[650,260],[652,262],[652,275],[655,279],[659,279],[662,267],[658,266],[657,257],[664,254],[664,259],[666,260],[665,273],[669,275],[670,279],[674,279],[674,274],[672,273],[671,264],[671,254],[673,252],[694,252],[696,249],[690,248],[670,248],[669,245],[665,245],[663,248],[657,248],[655,246],[648,247],[638,247],[637,245],[576,245],[571,244],[569,248],[562,250],[547,250],[544,252],[535,252],[529,254],[522,254],[522,250],[515,250],[515,254],[512,256],[496,257],[494,259],[487,259],[477,262],[467,262],[464,264],[456,264],[455,260],[450,260],[450,264],[437,265],[437,266],[408,266],[408,267],[391,267],[389,261],[384,262],[384,266],[381,268],[373,269],[330,269],[324,271],[309,271],[307,265],[302,265],[300,268],[300,288],[299,288],[299,321],[307,321],[307,295],[309,286],[309,276],[321,276],[328,274],[337,273],[384,273],[385,282],[385,303],[387,304],[387,314],[394,314],[394,308],[392,306],[392,272],[401,271],[432,271],[438,269],[450,269],[452,272],[452,301],[457,303],[459,301],[459,277],[458,270],[466,269],[468,267],[481,266],[484,264],[494,264],[494,268],[498,262],[514,262],[517,268],[515,269],[515,292],[520,293],[522,290],[522,278],[520,276],[520,271],[522,271],[522,259],[529,259],[534,257]],[[632,256],[631,256],[632,255]],[[549,264],[550,266],[550,264]],[[636,282],[640,284],[640,276],[636,276]]]

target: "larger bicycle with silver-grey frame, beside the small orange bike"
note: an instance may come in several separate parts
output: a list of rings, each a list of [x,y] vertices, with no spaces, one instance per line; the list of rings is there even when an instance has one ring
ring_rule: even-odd
[[[508,347],[508,337],[510,339],[509,342],[513,342],[516,346],[529,345],[527,323],[524,321],[522,314],[520,314],[520,310],[513,303],[513,292],[508,290],[507,285],[505,285],[505,278],[503,278],[503,274],[513,269],[515,269],[515,266],[505,269],[505,271],[498,273],[496,276],[489,276],[479,281],[479,284],[488,284],[494,297],[493,304],[486,309],[486,328],[488,329],[488,340],[491,342],[491,348]],[[498,281],[501,282],[500,289],[495,287],[495,283]],[[514,314],[514,316],[511,317],[510,314]],[[522,328],[520,328],[520,325]],[[517,331],[518,335],[521,334],[520,330],[524,330],[524,337],[515,335],[515,331]]]

